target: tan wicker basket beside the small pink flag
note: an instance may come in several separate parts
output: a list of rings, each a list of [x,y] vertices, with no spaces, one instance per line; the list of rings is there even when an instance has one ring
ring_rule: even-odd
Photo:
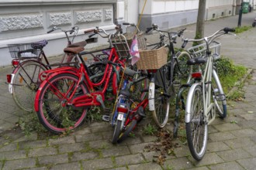
[[[140,59],[136,63],[139,70],[159,69],[167,63],[168,49],[162,46],[159,49],[140,50]]]

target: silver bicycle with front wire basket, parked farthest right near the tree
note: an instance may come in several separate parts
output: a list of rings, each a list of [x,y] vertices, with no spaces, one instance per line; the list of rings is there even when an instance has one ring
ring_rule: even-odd
[[[189,93],[185,106],[185,129],[189,150],[199,161],[206,152],[208,125],[211,124],[217,113],[221,118],[227,116],[227,101],[223,88],[216,73],[215,61],[220,58],[220,43],[214,41],[217,37],[228,32],[234,32],[234,29],[220,29],[212,36],[203,39],[185,39],[187,42],[205,42],[199,46],[194,46],[188,50],[194,50],[192,53],[202,56],[196,56],[189,59],[189,66],[198,66],[199,71],[192,73],[192,79],[195,83],[189,88]]]

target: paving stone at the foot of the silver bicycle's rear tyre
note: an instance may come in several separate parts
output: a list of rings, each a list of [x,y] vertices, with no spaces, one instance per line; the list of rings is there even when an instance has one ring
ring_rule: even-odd
[[[192,157],[191,157],[192,158]],[[196,167],[205,166],[205,165],[215,165],[223,163],[223,159],[220,156],[216,155],[216,153],[206,153],[200,162],[195,161],[192,158],[192,164]]]

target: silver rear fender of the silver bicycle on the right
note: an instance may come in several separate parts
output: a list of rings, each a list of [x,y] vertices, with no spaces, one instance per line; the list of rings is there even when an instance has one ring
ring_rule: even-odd
[[[189,123],[191,120],[191,106],[192,106],[192,97],[193,97],[193,92],[195,90],[195,87],[199,86],[200,83],[193,83],[192,87],[189,88],[189,93],[187,97],[187,103],[185,104],[185,123]]]

